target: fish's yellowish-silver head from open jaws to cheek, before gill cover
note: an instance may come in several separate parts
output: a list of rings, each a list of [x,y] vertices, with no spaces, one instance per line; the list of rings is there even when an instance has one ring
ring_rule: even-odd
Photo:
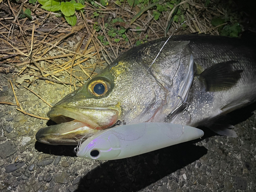
[[[165,97],[165,89],[140,60],[125,57],[57,102],[47,115],[61,124],[42,128],[36,139],[75,145],[118,120],[151,121],[158,116]]]

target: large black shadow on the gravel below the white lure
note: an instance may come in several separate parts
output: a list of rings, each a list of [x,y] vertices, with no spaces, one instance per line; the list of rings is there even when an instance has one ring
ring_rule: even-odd
[[[107,161],[84,175],[76,191],[138,191],[205,155],[206,148],[193,144],[198,141]]]

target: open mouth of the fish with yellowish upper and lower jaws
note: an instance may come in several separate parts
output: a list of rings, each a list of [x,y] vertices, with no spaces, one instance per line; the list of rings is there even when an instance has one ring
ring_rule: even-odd
[[[47,116],[58,123],[41,128],[36,140],[51,145],[77,145],[118,120],[118,111],[110,108],[54,106]]]

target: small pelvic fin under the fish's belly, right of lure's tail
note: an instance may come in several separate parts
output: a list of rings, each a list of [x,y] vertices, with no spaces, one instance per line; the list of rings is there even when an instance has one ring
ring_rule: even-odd
[[[227,137],[238,137],[237,133],[231,129],[235,128],[233,125],[219,125],[219,124],[214,124],[208,127],[211,131],[219,134],[219,135],[224,135]]]

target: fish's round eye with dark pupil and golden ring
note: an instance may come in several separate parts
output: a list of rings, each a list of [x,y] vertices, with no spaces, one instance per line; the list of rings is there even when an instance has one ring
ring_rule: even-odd
[[[95,96],[105,95],[110,89],[110,83],[104,80],[95,80],[88,86],[89,91]]]

